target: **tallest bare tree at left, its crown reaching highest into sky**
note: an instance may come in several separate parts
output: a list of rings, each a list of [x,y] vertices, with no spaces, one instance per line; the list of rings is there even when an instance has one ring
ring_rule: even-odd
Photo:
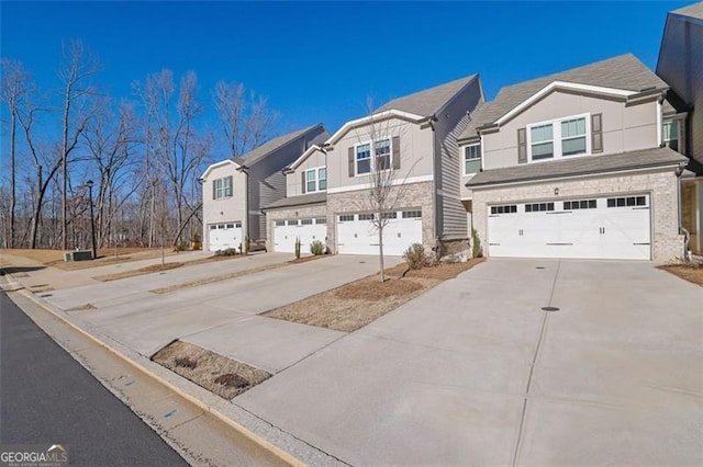
[[[67,194],[69,156],[76,149],[88,117],[81,115],[85,98],[94,93],[89,78],[100,70],[97,57],[88,53],[80,41],[71,41],[64,47],[64,62],[59,67],[58,77],[63,84],[62,115],[62,248],[68,247],[67,238]],[[74,109],[78,106],[78,109]]]

